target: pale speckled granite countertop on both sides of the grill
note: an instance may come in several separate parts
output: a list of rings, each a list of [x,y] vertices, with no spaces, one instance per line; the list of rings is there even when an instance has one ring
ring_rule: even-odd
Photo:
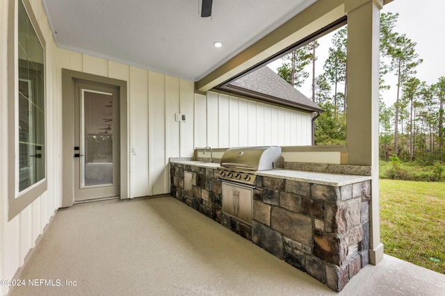
[[[219,163],[207,163],[204,161],[193,161],[191,158],[171,158],[170,163],[182,165],[194,165],[196,167],[206,167],[217,169]],[[325,186],[345,186],[353,183],[371,180],[371,176],[357,176],[353,174],[333,174],[326,172],[307,172],[301,170],[265,170],[255,172],[257,176],[270,176],[273,178],[315,183]]]

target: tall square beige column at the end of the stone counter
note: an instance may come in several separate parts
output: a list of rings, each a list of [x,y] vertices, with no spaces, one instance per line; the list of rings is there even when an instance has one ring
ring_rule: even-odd
[[[346,0],[348,164],[372,166],[370,261],[383,258],[378,190],[379,27],[382,0]]]

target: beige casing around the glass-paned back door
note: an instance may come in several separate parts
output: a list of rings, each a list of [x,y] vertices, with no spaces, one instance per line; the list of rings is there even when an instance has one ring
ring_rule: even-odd
[[[120,199],[129,198],[127,81],[62,69],[62,207],[74,204],[74,81],[118,88],[120,97]]]

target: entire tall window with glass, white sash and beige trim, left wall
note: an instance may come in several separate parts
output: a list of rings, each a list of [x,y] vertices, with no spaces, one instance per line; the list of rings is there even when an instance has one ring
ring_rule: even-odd
[[[28,1],[14,2],[8,31],[10,219],[47,189],[44,40]]]

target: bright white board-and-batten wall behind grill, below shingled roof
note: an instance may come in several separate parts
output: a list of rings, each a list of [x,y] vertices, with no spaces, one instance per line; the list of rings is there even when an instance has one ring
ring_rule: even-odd
[[[195,147],[312,145],[312,114],[207,92],[195,94]]]

